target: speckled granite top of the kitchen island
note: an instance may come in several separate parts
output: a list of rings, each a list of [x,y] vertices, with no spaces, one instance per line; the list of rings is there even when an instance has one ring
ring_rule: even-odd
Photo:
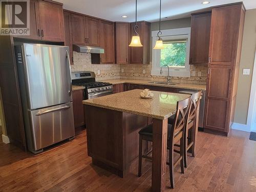
[[[166,119],[176,112],[177,101],[190,95],[152,91],[152,99],[142,99],[142,90],[131,90],[94,99],[84,100],[83,104],[116,110],[156,119]]]

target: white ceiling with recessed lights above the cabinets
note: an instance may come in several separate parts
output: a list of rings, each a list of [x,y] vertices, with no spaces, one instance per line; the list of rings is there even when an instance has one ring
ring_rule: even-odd
[[[135,21],[135,0],[55,0],[63,3],[63,8],[71,11],[117,21]],[[203,5],[204,0],[162,0],[163,20],[183,18],[190,13],[211,6],[238,2],[236,0],[208,0],[210,4]],[[160,0],[137,0],[138,20],[154,22],[159,19]],[[246,9],[256,8],[256,0],[244,0]],[[127,18],[122,18],[127,15]],[[168,17],[168,18],[164,18]]]

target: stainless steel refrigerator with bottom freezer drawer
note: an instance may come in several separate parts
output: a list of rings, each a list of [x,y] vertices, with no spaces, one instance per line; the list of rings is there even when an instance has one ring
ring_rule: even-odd
[[[74,138],[69,47],[22,44],[15,55],[29,151]]]

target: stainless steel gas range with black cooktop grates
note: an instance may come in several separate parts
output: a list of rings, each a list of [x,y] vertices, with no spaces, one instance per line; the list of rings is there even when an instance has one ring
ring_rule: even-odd
[[[94,72],[72,72],[72,84],[86,88],[84,99],[113,94],[112,84],[108,82],[96,82]]]

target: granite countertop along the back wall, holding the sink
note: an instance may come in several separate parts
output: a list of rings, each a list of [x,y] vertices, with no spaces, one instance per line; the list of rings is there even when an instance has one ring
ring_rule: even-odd
[[[159,87],[167,87],[167,88],[181,88],[181,89],[193,89],[193,90],[204,90],[204,91],[206,90],[206,86],[204,84],[189,84],[189,83],[178,83],[175,85],[156,84],[156,83],[150,83],[151,80],[140,80],[140,79],[106,79],[102,81],[109,82],[112,84],[135,83],[135,84],[146,84],[148,86],[159,86]]]

